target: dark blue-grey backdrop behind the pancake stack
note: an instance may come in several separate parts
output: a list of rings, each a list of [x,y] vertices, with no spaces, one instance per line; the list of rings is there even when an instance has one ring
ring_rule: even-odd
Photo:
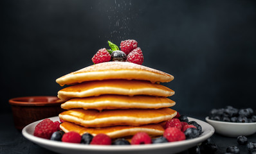
[[[8,99],[56,96],[107,40],[135,39],[143,65],[174,75],[175,109],[255,109],[255,1],[1,1],[1,112]]]

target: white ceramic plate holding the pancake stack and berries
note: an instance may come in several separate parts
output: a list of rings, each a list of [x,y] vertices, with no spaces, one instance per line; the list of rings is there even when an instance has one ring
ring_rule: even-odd
[[[51,117],[52,121],[58,121],[59,117]],[[196,139],[189,139],[185,141],[178,142],[167,142],[160,144],[143,144],[143,145],[123,145],[123,146],[100,146],[100,145],[86,145],[86,144],[75,144],[75,143],[67,143],[67,142],[58,142],[51,141],[48,139],[41,139],[39,137],[33,136],[33,132],[35,126],[41,121],[36,121],[32,124],[28,124],[28,126],[23,128],[23,135],[26,139],[42,146],[51,151],[55,151],[57,153],[138,153],[138,154],[150,154],[150,153],[178,153],[193,146],[196,146],[200,142],[205,141],[209,137],[211,137],[214,133],[214,128],[204,121],[200,121],[198,119],[194,119],[188,117],[189,121],[196,121],[203,128],[203,133],[197,137]]]

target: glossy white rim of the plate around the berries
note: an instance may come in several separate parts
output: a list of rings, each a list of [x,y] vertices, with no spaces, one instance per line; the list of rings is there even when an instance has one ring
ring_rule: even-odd
[[[49,117],[49,119],[55,119],[57,117],[58,116]],[[93,151],[106,151],[106,150],[107,151],[123,151],[123,150],[134,151],[134,150],[145,150],[145,149],[156,150],[156,149],[162,149],[162,148],[172,148],[172,147],[176,147],[176,146],[185,146],[189,143],[192,144],[194,142],[199,143],[199,142],[203,141],[203,139],[208,139],[209,137],[211,137],[214,134],[215,129],[212,125],[206,123],[205,121],[201,121],[199,119],[195,119],[192,117],[188,117],[188,119],[190,119],[189,121],[197,121],[199,123],[205,124],[207,126],[207,128],[209,128],[209,132],[203,136],[200,136],[200,137],[197,137],[194,139],[189,139],[189,140],[185,140],[185,141],[176,141],[176,142],[166,142],[166,143],[161,143],[161,144],[118,145],[118,146],[87,145],[87,144],[51,141],[49,139],[42,139],[40,137],[35,137],[31,133],[28,133],[28,129],[31,128],[33,125],[40,123],[43,120],[42,119],[42,120],[35,121],[35,122],[25,126],[22,130],[22,134],[26,139],[28,139],[31,142],[34,142],[35,144],[38,144],[39,146],[44,145],[44,146],[51,146],[51,147],[54,146],[56,148],[68,148],[70,150],[93,150]],[[44,146],[42,146],[42,147],[44,147]]]

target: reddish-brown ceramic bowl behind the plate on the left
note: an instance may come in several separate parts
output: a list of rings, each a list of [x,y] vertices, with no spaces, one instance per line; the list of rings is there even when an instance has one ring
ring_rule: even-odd
[[[62,99],[55,96],[28,96],[9,100],[14,116],[14,125],[18,130],[35,121],[58,116],[64,109]]]

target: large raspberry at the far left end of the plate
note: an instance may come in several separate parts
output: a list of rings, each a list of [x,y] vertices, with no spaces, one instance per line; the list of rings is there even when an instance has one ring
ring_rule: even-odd
[[[56,130],[56,124],[53,123],[53,121],[50,119],[44,119],[39,124],[37,124],[37,126],[35,126],[33,135],[44,139],[50,139],[51,134]]]

